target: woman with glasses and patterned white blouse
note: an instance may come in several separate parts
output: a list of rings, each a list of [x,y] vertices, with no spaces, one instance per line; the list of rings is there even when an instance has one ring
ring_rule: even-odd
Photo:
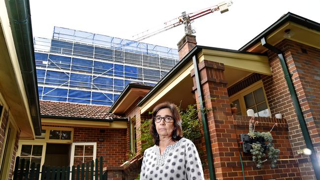
[[[150,133],[155,146],[144,151],[140,180],[204,180],[194,144],[182,137],[176,105],[165,102],[154,108]]]

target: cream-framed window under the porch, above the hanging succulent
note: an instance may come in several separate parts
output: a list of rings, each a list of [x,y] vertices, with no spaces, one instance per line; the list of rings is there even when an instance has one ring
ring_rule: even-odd
[[[230,102],[237,104],[237,115],[247,115],[247,110],[253,109],[256,117],[270,117],[269,105],[261,80],[229,98]]]

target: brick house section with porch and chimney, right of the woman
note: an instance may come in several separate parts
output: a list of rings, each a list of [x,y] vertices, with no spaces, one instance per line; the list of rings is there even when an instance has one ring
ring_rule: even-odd
[[[151,90],[127,87],[110,113],[127,117],[132,132],[160,102],[182,108],[197,103],[198,108],[212,108],[199,115],[206,179],[239,180],[243,173],[247,180],[320,179],[319,39],[319,23],[290,12],[238,51],[198,46],[195,36],[186,35],[178,43],[181,61]],[[238,105],[236,115],[230,102]],[[248,109],[254,109],[259,121],[256,130],[269,131],[278,124],[272,131],[281,150],[277,168],[266,161],[257,169],[252,155],[242,152],[239,135],[248,133]],[[283,119],[275,118],[278,113]],[[137,154],[124,168],[131,177],[142,159],[139,133],[129,133],[128,150]],[[305,148],[313,153],[304,155]]]

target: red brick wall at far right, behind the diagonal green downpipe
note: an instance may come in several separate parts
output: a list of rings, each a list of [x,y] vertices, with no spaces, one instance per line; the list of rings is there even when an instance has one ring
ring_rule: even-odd
[[[310,137],[320,156],[320,50],[290,40],[282,41],[277,48],[284,52]],[[279,58],[270,51],[268,56],[273,75],[262,76],[262,80],[271,114],[282,113],[287,119],[290,144],[294,158],[298,158],[302,178],[315,179],[308,156],[298,154],[305,148],[305,142]]]

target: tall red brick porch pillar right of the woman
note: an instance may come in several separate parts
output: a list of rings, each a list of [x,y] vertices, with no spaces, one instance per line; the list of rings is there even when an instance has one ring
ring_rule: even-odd
[[[239,177],[241,176],[241,167],[237,166],[237,162],[240,162],[239,150],[226,88],[227,82],[224,78],[224,64],[203,60],[198,67],[205,107],[212,109],[206,116],[216,178],[226,180]],[[197,94],[194,72],[191,72],[191,75],[193,90]],[[197,104],[200,103],[198,99],[196,101]]]

